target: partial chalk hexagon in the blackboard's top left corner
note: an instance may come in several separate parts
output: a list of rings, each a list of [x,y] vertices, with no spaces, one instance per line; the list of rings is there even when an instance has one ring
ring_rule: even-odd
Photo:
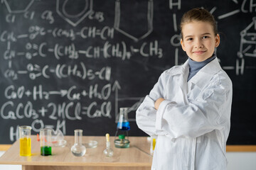
[[[28,8],[31,7],[33,2],[34,0],[4,0],[4,4],[9,13],[23,13],[28,11]]]

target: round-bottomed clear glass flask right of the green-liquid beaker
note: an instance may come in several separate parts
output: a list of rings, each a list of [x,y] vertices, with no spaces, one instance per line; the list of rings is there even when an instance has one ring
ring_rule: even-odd
[[[86,148],[82,145],[82,130],[75,131],[75,144],[71,147],[71,152],[75,157],[82,157],[85,155]]]

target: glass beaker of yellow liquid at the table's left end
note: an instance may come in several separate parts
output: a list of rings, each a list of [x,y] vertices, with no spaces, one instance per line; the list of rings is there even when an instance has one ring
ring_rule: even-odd
[[[31,156],[31,129],[31,126],[18,127],[20,155],[23,157]]]

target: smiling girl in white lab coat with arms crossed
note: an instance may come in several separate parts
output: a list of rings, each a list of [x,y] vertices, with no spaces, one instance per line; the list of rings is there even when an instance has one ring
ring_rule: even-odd
[[[137,110],[140,129],[157,135],[151,169],[225,170],[232,82],[214,54],[213,16],[193,8],[181,19],[188,60],[166,70]]]

